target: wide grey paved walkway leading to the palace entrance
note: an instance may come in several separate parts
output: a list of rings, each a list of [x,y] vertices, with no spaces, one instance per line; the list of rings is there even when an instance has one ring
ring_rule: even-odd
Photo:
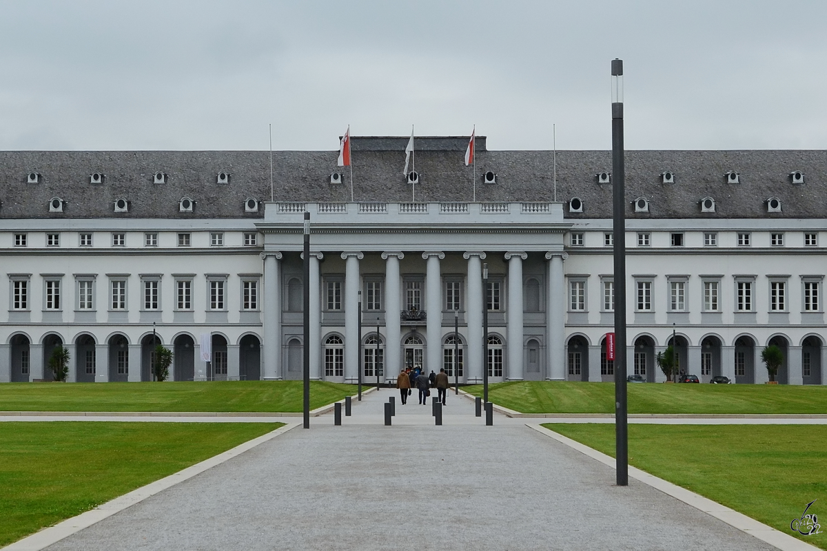
[[[48,549],[774,549],[449,394],[311,420]],[[180,419],[179,419],[180,420]],[[547,420],[544,420],[547,421]]]

